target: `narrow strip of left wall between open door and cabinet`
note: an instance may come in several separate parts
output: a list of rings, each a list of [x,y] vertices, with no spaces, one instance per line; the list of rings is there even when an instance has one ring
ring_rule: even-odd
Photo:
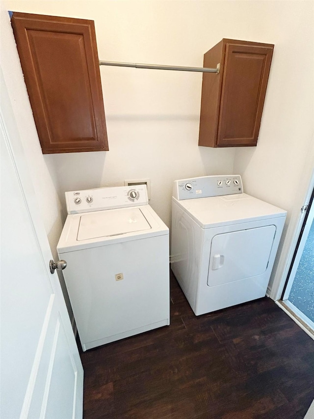
[[[25,150],[27,165],[31,173],[37,202],[52,250],[53,259],[58,260],[56,244],[63,225],[62,205],[58,198],[56,168],[48,165],[41,152],[37,131],[30,108],[20,60],[17,53],[7,10],[0,3],[0,65],[8,88],[9,100],[15,115],[16,125]],[[4,97],[1,95],[1,101]],[[5,106],[6,104],[2,103]],[[11,121],[6,121],[11,123]],[[5,199],[1,196],[1,199]],[[49,260],[47,260],[47,265]],[[65,302],[72,318],[72,309],[66,292],[62,273],[58,273]]]

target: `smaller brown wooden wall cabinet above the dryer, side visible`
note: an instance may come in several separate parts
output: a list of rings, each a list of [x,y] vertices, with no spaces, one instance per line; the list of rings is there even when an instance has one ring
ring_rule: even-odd
[[[199,145],[257,144],[274,45],[222,39],[204,55]]]

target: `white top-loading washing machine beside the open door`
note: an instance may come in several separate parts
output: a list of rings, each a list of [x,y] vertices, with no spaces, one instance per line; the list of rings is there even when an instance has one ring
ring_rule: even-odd
[[[83,351],[169,325],[169,229],[146,185],[65,195],[57,251]]]

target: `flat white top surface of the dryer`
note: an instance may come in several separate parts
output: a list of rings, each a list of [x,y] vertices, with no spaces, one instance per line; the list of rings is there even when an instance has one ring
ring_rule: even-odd
[[[202,228],[218,227],[286,217],[287,211],[247,194],[212,196],[178,201],[172,198]]]

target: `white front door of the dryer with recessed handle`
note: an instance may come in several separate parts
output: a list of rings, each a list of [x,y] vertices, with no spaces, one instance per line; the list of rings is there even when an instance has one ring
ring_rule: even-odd
[[[266,225],[214,236],[207,284],[216,286],[262,275],[267,269],[275,233],[275,225]]]

